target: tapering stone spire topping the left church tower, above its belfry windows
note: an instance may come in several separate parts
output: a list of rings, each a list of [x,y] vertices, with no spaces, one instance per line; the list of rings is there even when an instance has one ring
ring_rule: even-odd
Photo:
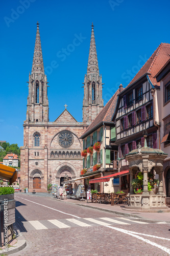
[[[32,66],[31,73],[44,75],[44,65],[43,65],[43,58],[42,58],[41,40],[40,40],[39,23],[38,22],[37,22],[37,33],[36,33],[36,39],[35,39],[33,66]]]

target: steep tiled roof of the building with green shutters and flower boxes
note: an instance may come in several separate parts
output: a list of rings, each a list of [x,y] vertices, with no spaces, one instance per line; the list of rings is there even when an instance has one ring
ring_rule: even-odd
[[[101,122],[111,122],[112,116],[114,113],[114,109],[117,102],[117,95],[119,94],[119,89],[115,92],[115,94],[111,97],[111,99],[107,102],[107,104],[104,106],[103,110],[96,116],[96,118],[92,121],[92,123],[88,126],[86,133],[88,133],[90,130],[92,130],[96,125],[98,125]],[[81,136],[81,137],[82,137]]]

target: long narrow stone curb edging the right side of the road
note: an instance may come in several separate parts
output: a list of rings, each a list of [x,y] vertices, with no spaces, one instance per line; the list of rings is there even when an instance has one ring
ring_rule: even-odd
[[[138,215],[135,215],[135,214],[129,214],[127,212],[120,212],[120,211],[116,211],[116,210],[108,210],[108,209],[99,208],[99,207],[95,207],[95,206],[91,206],[91,205],[84,205],[84,204],[65,202],[63,200],[61,201],[60,199],[56,199],[56,198],[51,198],[51,199],[57,200],[57,201],[62,202],[62,203],[74,204],[74,205],[79,205],[79,206],[83,206],[83,207],[87,207],[87,208],[91,208],[91,209],[95,209],[95,210],[111,212],[112,214],[123,215],[123,216],[126,216],[126,217],[132,217],[132,218],[138,219],[138,221],[141,221],[141,222],[147,221],[149,223],[157,223],[157,222],[170,223],[170,221],[152,220],[152,219],[144,218],[144,217],[141,217],[141,216],[138,216]]]

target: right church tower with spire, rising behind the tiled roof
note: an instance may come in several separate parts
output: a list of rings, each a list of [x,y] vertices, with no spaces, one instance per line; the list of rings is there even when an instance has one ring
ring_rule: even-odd
[[[92,122],[103,107],[102,75],[99,74],[94,26],[92,24],[87,74],[84,77],[83,122]]]

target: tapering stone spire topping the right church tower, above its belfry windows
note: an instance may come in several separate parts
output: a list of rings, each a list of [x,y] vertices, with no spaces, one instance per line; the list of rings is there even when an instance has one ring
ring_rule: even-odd
[[[89,74],[99,75],[98,56],[97,56],[96,47],[95,47],[93,23],[91,25],[91,39],[90,39],[90,50],[89,50],[89,56],[88,56],[87,76]]]

